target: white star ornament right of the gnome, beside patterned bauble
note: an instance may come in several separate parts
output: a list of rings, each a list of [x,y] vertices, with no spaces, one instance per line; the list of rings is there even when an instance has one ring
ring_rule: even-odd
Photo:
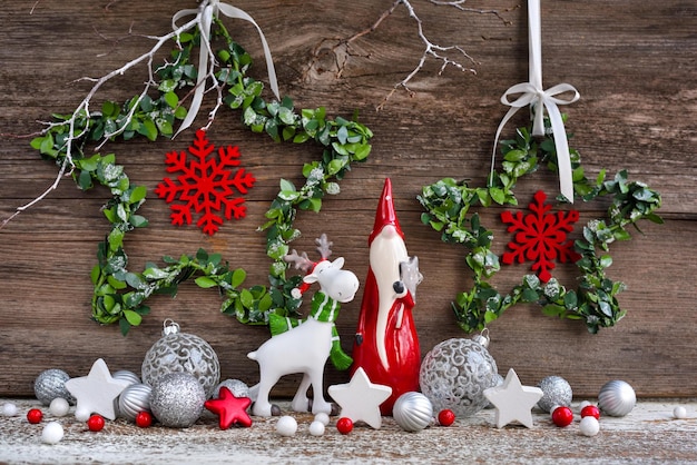
[[[513,368],[508,370],[503,384],[484,389],[484,397],[497,408],[497,428],[511,422],[532,427],[532,407],[544,393],[539,387],[523,386]]]

